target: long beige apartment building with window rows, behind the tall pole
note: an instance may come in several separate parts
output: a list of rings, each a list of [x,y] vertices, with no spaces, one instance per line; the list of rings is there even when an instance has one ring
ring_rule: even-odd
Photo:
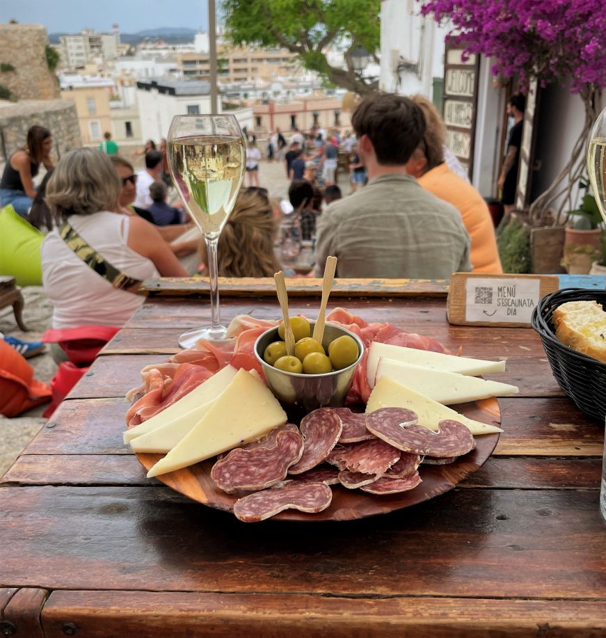
[[[276,77],[303,74],[296,56],[286,49],[234,49],[219,45],[218,79],[221,83],[246,82],[253,78],[270,81]],[[207,53],[177,54],[184,79],[207,80],[210,61]]]

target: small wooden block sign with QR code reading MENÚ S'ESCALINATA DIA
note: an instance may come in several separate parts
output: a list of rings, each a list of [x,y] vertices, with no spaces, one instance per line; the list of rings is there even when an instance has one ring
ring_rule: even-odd
[[[558,289],[557,275],[454,273],[446,314],[449,323],[458,326],[529,328],[534,307]]]

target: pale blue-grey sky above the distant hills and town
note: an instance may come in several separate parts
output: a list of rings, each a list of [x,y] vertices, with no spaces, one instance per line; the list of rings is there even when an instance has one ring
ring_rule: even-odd
[[[111,32],[114,22],[123,33],[160,26],[206,31],[207,11],[207,0],[0,0],[0,22],[44,24],[49,33]]]

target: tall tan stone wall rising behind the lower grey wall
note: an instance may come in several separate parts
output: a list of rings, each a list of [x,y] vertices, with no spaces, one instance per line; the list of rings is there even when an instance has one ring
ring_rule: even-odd
[[[0,72],[0,84],[17,99],[59,97],[58,82],[47,64],[47,44],[42,24],[0,24],[0,63],[15,67]]]

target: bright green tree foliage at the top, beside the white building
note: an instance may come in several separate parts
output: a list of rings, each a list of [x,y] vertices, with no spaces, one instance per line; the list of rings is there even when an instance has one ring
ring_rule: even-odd
[[[303,67],[330,83],[367,93],[368,86],[348,71],[330,66],[324,51],[338,46],[379,47],[380,0],[223,0],[227,38],[234,45],[285,47]]]

